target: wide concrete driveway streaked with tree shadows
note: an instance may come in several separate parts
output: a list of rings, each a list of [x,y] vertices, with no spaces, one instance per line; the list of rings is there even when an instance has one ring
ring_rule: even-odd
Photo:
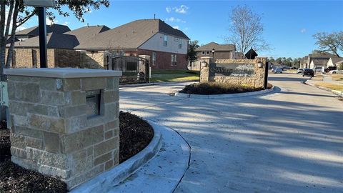
[[[123,88],[120,105],[192,147],[174,192],[343,192],[343,102],[303,80],[271,74],[274,93],[236,99],[169,96],[184,84]]]

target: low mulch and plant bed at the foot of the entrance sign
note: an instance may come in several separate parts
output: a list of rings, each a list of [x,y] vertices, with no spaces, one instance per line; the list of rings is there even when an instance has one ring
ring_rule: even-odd
[[[268,88],[272,88],[272,84],[268,84]],[[234,94],[249,91],[260,91],[263,88],[254,86],[245,86],[239,84],[223,84],[217,82],[194,83],[189,84],[180,91],[186,94]]]

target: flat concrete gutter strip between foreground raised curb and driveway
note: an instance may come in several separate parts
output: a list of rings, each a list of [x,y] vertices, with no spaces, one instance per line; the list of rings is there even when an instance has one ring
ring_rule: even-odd
[[[177,131],[154,121],[148,120],[151,126],[161,131],[162,147],[159,153],[130,177],[108,187],[105,192],[172,193],[182,182],[189,169],[191,147]]]

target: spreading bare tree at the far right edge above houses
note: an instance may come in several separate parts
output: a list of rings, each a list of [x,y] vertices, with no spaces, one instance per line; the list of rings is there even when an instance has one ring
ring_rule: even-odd
[[[343,51],[343,31],[333,32],[331,34],[326,32],[319,32],[313,35],[316,39],[316,45],[319,46],[320,51],[329,51],[339,57],[339,51]]]

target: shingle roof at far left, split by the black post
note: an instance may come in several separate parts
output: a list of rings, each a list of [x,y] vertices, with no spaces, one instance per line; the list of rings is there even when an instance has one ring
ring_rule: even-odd
[[[46,35],[46,46],[48,49],[74,49],[79,44],[76,37],[68,34],[50,33]],[[9,46],[9,44],[7,44]],[[39,47],[39,36],[35,36],[24,41],[16,41],[16,48],[36,48]]]

